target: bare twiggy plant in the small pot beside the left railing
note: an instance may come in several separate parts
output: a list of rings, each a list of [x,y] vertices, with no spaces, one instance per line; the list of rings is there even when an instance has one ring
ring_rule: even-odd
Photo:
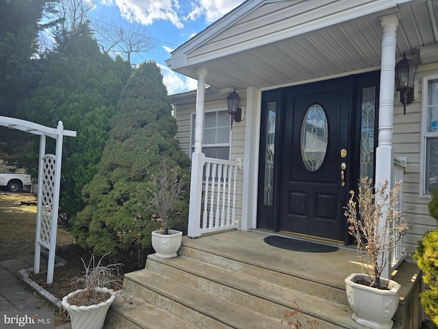
[[[180,177],[179,167],[169,169],[164,160],[159,171],[156,174],[151,173],[151,178],[149,208],[155,212],[153,220],[161,222],[164,234],[168,234],[173,220],[180,214],[177,210],[177,203],[182,197],[184,176]]]

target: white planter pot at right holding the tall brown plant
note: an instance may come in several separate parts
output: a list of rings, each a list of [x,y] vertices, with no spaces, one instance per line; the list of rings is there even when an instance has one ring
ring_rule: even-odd
[[[400,302],[400,284],[381,278],[389,290],[376,289],[356,283],[368,280],[365,274],[353,273],[345,279],[348,304],[353,310],[352,319],[358,324],[374,329],[391,329],[392,317]]]

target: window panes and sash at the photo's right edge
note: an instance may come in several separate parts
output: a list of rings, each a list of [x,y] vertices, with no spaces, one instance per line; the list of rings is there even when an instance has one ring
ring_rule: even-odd
[[[438,75],[424,77],[422,109],[422,194],[438,186]]]

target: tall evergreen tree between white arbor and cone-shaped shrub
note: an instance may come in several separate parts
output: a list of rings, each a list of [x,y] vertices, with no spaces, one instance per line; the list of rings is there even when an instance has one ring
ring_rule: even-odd
[[[60,199],[62,211],[74,215],[84,207],[81,190],[96,173],[110,118],[132,69],[129,62],[101,53],[86,29],[70,36],[50,63],[19,115],[49,127],[62,121],[65,129],[77,131],[76,138],[64,138]],[[38,152],[31,156],[36,160]]]

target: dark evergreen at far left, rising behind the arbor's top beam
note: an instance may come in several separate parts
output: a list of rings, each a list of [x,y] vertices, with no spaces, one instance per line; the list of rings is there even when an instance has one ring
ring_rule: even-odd
[[[49,0],[0,0],[1,116],[17,117],[18,104],[38,83],[44,68],[44,60],[38,60],[36,56],[39,52],[38,33],[42,29],[38,22],[43,17],[43,9],[52,3]],[[15,153],[32,154],[28,147],[15,147],[23,138],[30,141],[29,136],[0,127],[0,159],[16,164]],[[23,167],[33,160],[35,157],[25,159]]]

